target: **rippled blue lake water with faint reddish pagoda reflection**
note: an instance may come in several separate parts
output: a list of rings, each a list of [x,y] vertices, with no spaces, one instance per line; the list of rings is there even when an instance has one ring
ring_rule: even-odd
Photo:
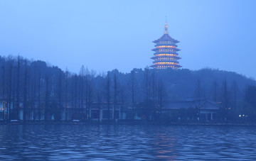
[[[0,160],[256,160],[256,128],[0,125]]]

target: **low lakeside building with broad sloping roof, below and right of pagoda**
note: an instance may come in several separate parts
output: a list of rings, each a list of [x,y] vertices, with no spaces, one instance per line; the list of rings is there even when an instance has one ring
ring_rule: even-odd
[[[199,108],[200,107],[200,108]],[[143,106],[137,106],[137,111],[145,109]],[[161,118],[166,121],[216,121],[218,120],[217,113],[220,105],[216,102],[207,99],[180,99],[180,100],[165,100],[164,106],[157,109],[157,113],[161,113]],[[150,111],[150,109],[146,109]],[[148,113],[149,114],[149,113]],[[137,120],[154,120],[155,112],[145,116],[145,113],[136,113]],[[200,116],[199,116],[200,115]]]

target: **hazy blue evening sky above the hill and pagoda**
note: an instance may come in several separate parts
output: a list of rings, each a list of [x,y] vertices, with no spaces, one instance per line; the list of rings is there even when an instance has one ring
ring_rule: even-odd
[[[0,0],[0,55],[43,60],[71,72],[150,66],[153,40],[176,40],[183,68],[256,78],[256,1]]]

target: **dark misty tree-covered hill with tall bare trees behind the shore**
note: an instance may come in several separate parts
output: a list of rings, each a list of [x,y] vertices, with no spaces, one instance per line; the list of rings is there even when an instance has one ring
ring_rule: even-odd
[[[81,67],[79,74],[60,70],[42,61],[23,57],[0,57],[0,100],[6,121],[66,120],[60,115],[72,107],[73,119],[90,119],[92,104],[107,108],[122,104],[131,109],[127,118],[144,113],[144,119],[159,119],[167,100],[208,99],[220,104],[220,117],[228,120],[256,118],[256,82],[235,72],[203,69],[151,70],[134,69],[129,73],[112,70],[96,73]],[[114,114],[115,117],[115,114]],[[108,114],[110,119],[110,114]]]

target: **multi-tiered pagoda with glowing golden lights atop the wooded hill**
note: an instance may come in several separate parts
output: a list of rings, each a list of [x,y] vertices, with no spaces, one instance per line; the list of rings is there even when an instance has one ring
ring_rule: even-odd
[[[178,60],[181,59],[181,57],[178,57],[177,52],[179,49],[176,45],[179,41],[171,38],[168,34],[167,27],[166,21],[164,35],[153,41],[153,43],[156,43],[155,48],[152,49],[155,52],[154,57],[151,57],[151,59],[154,60],[154,65],[150,67],[154,67],[155,69],[178,69],[181,67],[181,65],[178,65]]]

